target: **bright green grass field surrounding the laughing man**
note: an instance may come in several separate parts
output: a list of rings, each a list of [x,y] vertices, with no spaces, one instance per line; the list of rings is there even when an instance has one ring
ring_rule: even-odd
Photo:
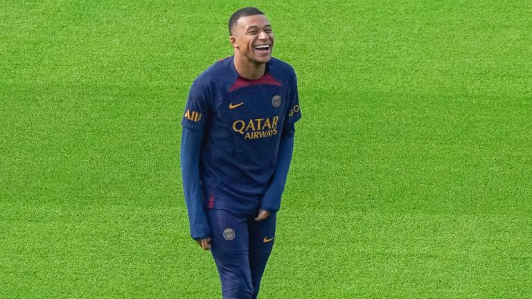
[[[220,298],[182,113],[264,10],[303,119],[260,298],[530,298],[529,1],[0,1],[0,298]]]

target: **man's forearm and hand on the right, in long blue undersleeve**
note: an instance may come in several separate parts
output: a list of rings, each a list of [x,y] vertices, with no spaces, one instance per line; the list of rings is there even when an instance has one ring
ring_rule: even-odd
[[[281,136],[281,143],[279,144],[279,154],[277,156],[277,165],[274,171],[274,179],[272,185],[264,194],[260,201],[260,212],[255,219],[261,221],[266,219],[272,212],[277,212],[281,207],[281,195],[285,190],[286,178],[288,170],[290,169],[290,161],[292,161],[292,153],[294,152],[294,125],[290,125],[283,130]],[[262,217],[261,217],[262,214]]]

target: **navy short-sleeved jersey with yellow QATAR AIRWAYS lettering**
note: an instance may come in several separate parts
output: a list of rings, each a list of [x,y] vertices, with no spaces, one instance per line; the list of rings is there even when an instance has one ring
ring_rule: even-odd
[[[199,75],[181,125],[205,134],[199,158],[204,207],[256,214],[283,129],[299,118],[296,75],[281,60],[272,58],[256,80],[240,77],[233,57]]]

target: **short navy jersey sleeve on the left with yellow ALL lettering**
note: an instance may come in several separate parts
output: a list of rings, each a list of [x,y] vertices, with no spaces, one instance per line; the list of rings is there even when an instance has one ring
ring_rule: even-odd
[[[209,87],[196,80],[188,92],[188,100],[181,125],[188,129],[204,132],[211,117],[211,96]]]

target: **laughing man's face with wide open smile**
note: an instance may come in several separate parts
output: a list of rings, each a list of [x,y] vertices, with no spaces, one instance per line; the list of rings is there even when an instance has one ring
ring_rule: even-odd
[[[249,62],[269,62],[274,46],[274,33],[265,15],[241,17],[233,27],[231,44]]]

